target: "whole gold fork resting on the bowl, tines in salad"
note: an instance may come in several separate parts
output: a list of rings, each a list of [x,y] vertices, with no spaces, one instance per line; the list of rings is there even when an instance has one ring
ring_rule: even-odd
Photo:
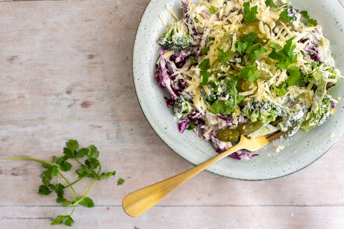
[[[272,125],[275,126],[277,125],[278,122],[279,120],[272,123]],[[292,129],[293,127],[289,128],[288,131]],[[173,190],[178,188],[184,182],[191,179],[193,176],[205,170],[212,164],[218,162],[219,160],[241,149],[246,149],[251,152],[254,152],[268,145],[270,142],[282,136],[284,133],[286,132],[276,131],[275,133],[268,134],[268,135],[258,137],[258,138],[254,138],[254,139],[250,139],[244,135],[241,135],[240,141],[237,145],[219,154],[218,156],[206,162],[203,162],[202,164],[197,165],[196,167],[190,170],[187,170],[179,175],[175,175],[169,179],[160,181],[158,183],[141,188],[140,190],[137,190],[135,192],[128,194],[126,197],[123,198],[123,201],[122,201],[123,210],[129,216],[137,217],[141,215],[142,213],[144,213],[145,211],[147,211],[148,209],[150,209],[151,207],[153,207],[155,204],[161,201],[165,196],[170,194]]]

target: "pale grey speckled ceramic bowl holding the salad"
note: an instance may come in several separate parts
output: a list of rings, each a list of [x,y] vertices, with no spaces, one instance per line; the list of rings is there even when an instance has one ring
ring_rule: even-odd
[[[337,67],[344,72],[344,8],[338,0],[294,0],[294,7],[308,10],[311,17],[318,20],[324,28],[325,36],[330,39]],[[155,80],[154,65],[159,58],[160,46],[157,39],[163,31],[158,15],[162,14],[166,22],[172,15],[165,9],[168,4],[181,18],[181,1],[151,0],[144,10],[137,29],[133,48],[132,71],[137,98],[141,109],[152,129],[179,156],[197,165],[217,153],[211,143],[206,143],[196,136],[193,131],[180,134],[172,116],[172,108],[164,102],[164,96],[169,96],[165,89],[158,87]],[[343,81],[343,80],[342,80]],[[342,97],[344,82],[332,92],[334,98]],[[269,180],[297,172],[325,154],[341,136],[344,129],[343,99],[336,106],[334,114],[324,125],[308,132],[298,131],[292,138],[283,142],[273,142],[264,149],[256,151],[259,156],[253,159],[236,160],[227,157],[207,169],[208,172],[239,180]],[[328,137],[334,133],[334,137]],[[286,145],[275,153],[276,145]]]

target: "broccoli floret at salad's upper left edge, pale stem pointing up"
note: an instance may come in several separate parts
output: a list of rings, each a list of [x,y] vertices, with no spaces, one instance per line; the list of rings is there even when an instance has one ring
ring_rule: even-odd
[[[181,21],[171,24],[158,43],[169,50],[181,50],[192,46],[193,39],[185,32],[184,27]]]

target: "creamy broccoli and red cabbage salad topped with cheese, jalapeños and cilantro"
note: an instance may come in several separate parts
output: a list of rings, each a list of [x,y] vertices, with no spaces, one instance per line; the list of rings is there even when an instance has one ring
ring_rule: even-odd
[[[273,0],[183,3],[159,38],[156,79],[171,94],[180,133],[194,131],[217,152],[250,138],[322,125],[342,78],[330,42],[307,11]],[[278,125],[271,125],[272,122]],[[240,159],[247,154],[232,154]]]

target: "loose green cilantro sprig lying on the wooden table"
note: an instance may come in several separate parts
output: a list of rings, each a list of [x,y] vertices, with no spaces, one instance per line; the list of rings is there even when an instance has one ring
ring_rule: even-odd
[[[71,214],[69,215],[60,215],[54,219],[51,219],[51,225],[60,225],[64,222],[66,226],[73,226],[74,220],[71,217],[73,214],[75,207],[77,204],[83,205],[87,208],[94,207],[94,202],[91,198],[86,197],[91,187],[96,183],[96,181],[101,181],[103,179],[110,178],[116,174],[116,171],[111,171],[107,173],[100,173],[101,171],[101,164],[98,161],[99,151],[97,147],[94,145],[88,148],[79,148],[79,143],[77,140],[69,140],[66,142],[66,147],[63,148],[64,155],[57,158],[56,156],[52,157],[52,162],[46,162],[37,160],[34,158],[26,158],[26,157],[19,157],[19,158],[8,158],[7,160],[32,160],[39,163],[42,163],[43,167],[46,169],[42,172],[41,178],[43,184],[39,187],[38,193],[41,195],[49,195],[52,192],[55,192],[57,195],[56,203],[61,204],[65,207],[73,207]],[[87,158],[84,163],[80,162],[80,158]],[[62,172],[67,172],[72,169],[72,164],[67,162],[68,159],[74,159],[78,164],[80,164],[80,168],[76,170],[78,174],[78,179],[74,182],[69,182],[65,175]],[[76,194],[73,185],[82,180],[83,178],[88,177],[92,178],[93,182],[88,187],[86,193],[78,197]],[[56,179],[56,183],[52,183],[52,179]],[[59,178],[62,178],[67,185],[63,185],[59,182]],[[119,179],[117,181],[117,185],[121,185],[124,183],[123,179]],[[64,190],[65,188],[70,187],[74,193],[75,199],[74,200],[67,200],[64,198]]]

